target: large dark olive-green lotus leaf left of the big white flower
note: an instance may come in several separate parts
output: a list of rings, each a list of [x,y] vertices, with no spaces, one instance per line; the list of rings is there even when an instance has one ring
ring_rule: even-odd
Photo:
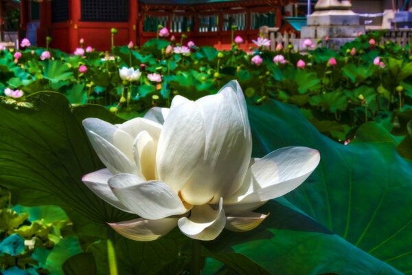
[[[82,120],[95,117],[114,124],[122,122],[120,118],[101,106],[71,108],[58,93],[29,96],[28,107],[9,102],[2,100],[0,104],[0,185],[12,191],[14,203],[60,206],[78,234],[100,239],[113,234],[106,222],[135,218],[109,206],[81,181],[83,175],[104,167],[87,140]],[[120,274],[161,270],[175,261],[186,239],[180,232],[150,243],[119,238]],[[59,259],[65,261],[67,256]]]

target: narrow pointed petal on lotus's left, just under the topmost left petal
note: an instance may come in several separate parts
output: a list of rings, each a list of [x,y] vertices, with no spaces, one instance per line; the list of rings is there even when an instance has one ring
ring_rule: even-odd
[[[122,151],[93,131],[86,133],[100,160],[111,173],[136,173],[135,164]]]

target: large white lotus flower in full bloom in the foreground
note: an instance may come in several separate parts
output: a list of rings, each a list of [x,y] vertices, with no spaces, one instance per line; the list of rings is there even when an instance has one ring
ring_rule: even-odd
[[[129,239],[152,241],[179,226],[213,240],[223,228],[248,231],[266,214],[251,212],[297,188],[319,152],[287,147],[251,158],[247,106],[237,81],[195,102],[175,96],[170,109],[112,125],[83,125],[107,168],[83,177],[96,195],[139,219],[109,223]]]

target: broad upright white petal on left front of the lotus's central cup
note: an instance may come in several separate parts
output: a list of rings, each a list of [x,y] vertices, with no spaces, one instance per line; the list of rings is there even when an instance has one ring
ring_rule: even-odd
[[[204,144],[203,117],[194,102],[180,104],[170,111],[157,146],[159,179],[179,192],[203,157]]]

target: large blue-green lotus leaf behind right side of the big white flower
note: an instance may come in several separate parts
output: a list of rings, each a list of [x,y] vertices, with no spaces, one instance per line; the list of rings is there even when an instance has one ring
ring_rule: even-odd
[[[313,220],[281,203],[268,203],[260,212],[271,216],[260,228],[225,232],[212,243],[214,252],[230,246],[274,274],[412,270],[412,164],[387,143],[384,129],[376,130],[372,142],[365,138],[344,146],[321,135],[295,107],[279,102],[249,107],[249,119],[257,157],[284,146],[320,151],[317,170],[285,196]]]

